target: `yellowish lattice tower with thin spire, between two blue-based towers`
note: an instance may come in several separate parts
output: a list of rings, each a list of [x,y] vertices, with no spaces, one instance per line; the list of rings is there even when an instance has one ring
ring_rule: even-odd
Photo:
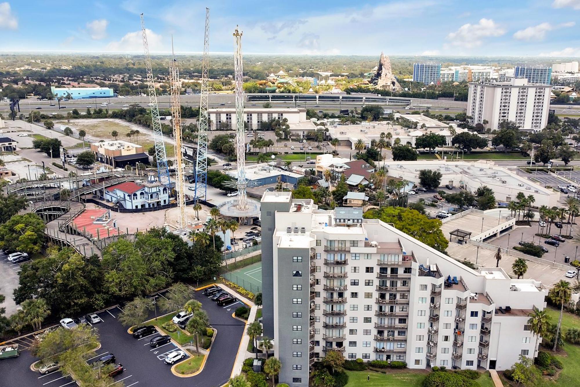
[[[187,221],[185,213],[185,173],[182,153],[181,102],[179,99],[181,83],[179,81],[177,59],[175,58],[175,52],[173,52],[173,37],[171,37],[171,52],[173,54],[173,60],[169,64],[169,89],[171,89],[171,116],[173,122],[173,138],[175,138],[175,191],[177,195],[177,209],[179,210],[177,225],[179,225],[180,229],[183,229],[187,226]]]

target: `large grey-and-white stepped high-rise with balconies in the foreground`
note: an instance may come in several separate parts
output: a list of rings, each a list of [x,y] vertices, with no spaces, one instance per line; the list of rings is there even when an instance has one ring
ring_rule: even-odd
[[[545,307],[540,282],[472,270],[361,209],[266,192],[261,211],[264,335],[276,341],[281,383],[307,386],[331,351],[473,370],[535,356],[527,321]]]

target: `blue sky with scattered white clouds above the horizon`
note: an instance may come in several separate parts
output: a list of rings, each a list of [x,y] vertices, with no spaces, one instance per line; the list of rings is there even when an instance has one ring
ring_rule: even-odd
[[[580,0],[0,0],[1,51],[580,56]]]

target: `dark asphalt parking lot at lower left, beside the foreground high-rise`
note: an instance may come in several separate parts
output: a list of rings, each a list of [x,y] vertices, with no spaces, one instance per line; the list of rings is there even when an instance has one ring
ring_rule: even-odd
[[[164,293],[158,293],[163,296]],[[124,371],[114,377],[115,382],[122,381],[125,387],[130,386],[221,386],[230,378],[238,346],[244,332],[245,324],[231,317],[235,308],[240,307],[240,301],[227,306],[218,306],[209,300],[202,291],[196,292],[195,298],[202,303],[202,307],[209,316],[209,325],[218,331],[209,352],[204,369],[200,374],[189,378],[179,378],[172,374],[171,366],[164,363],[165,357],[173,350],[180,349],[175,342],[152,348],[149,345],[153,334],[135,339],[127,333],[127,328],[117,321],[121,307],[115,306],[100,311],[97,315],[103,320],[95,324],[100,336],[101,347],[88,360],[89,364],[105,354],[114,354],[116,362],[121,363]],[[150,313],[154,318],[154,312]],[[21,348],[29,347],[33,338],[23,338],[14,341]],[[25,344],[27,343],[27,344]],[[184,351],[186,354],[187,352]],[[180,361],[186,360],[184,358]],[[30,350],[23,350],[19,357],[0,361],[0,375],[2,385],[6,386],[46,386],[64,387],[74,385],[69,376],[61,372],[52,372],[40,375],[30,370],[30,365],[37,361]]]

